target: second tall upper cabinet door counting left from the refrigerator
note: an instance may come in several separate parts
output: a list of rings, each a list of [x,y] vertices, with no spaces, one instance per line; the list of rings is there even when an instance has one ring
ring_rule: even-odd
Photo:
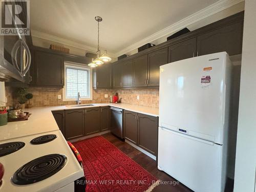
[[[147,86],[147,55],[133,59],[134,66],[134,87]]]

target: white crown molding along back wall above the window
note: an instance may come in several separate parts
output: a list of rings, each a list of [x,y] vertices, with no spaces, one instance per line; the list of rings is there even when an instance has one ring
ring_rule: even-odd
[[[72,40],[68,40],[66,38],[51,35],[49,33],[36,31],[36,30],[33,30],[33,29],[31,30],[31,36],[41,38],[41,39],[45,39],[45,40],[50,40],[50,41],[53,41],[53,42],[57,42],[58,44],[71,46],[71,47],[82,49],[82,50],[92,52],[92,53],[95,53],[96,50],[97,50],[96,47],[80,44],[79,42],[75,42],[75,41],[72,41]],[[115,54],[113,54],[113,53],[108,52],[108,54],[112,57],[115,57]]]

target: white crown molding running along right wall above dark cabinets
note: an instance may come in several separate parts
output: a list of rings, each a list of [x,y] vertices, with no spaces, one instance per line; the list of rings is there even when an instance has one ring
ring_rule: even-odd
[[[122,49],[121,51],[117,52],[116,55],[120,56],[122,54],[125,53],[129,53],[130,51],[133,51],[135,49],[137,49],[138,47],[141,47],[145,44],[147,44],[148,42],[152,42],[154,40],[157,40],[161,37],[170,35],[174,32],[179,31],[180,29],[183,29],[184,27],[187,27],[191,24],[194,24],[196,22],[199,22],[200,20],[214,15],[220,11],[223,11],[229,7],[232,7],[234,5],[237,5],[241,2],[244,2],[244,0],[220,0],[204,9],[201,9],[200,11],[193,13],[183,19],[181,19],[179,22],[170,25],[148,37],[143,38],[142,40],[136,42],[135,44],[126,47],[125,49]]]

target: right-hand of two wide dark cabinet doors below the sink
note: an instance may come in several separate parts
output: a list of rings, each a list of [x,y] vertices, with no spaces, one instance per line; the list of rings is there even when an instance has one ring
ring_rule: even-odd
[[[100,108],[86,108],[84,112],[84,130],[86,135],[100,132]]]

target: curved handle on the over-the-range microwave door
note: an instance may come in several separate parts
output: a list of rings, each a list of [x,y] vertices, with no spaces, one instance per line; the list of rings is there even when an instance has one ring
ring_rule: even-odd
[[[27,60],[26,60],[26,63],[25,63],[24,70],[22,69],[22,67],[21,67],[21,69],[18,67],[18,63],[17,63],[17,60],[16,60],[17,53],[18,53],[18,48],[20,48],[21,46],[22,46],[22,48],[25,49],[26,55],[27,55]],[[23,59],[21,59],[21,60],[23,62]],[[22,77],[25,76],[26,73],[28,72],[29,68],[30,68],[30,65],[31,65],[31,53],[29,51],[28,45],[26,44],[26,42],[23,39],[17,40],[17,42],[13,46],[13,49],[12,49],[12,62],[14,63],[15,68],[18,70],[20,76],[22,76]]]

